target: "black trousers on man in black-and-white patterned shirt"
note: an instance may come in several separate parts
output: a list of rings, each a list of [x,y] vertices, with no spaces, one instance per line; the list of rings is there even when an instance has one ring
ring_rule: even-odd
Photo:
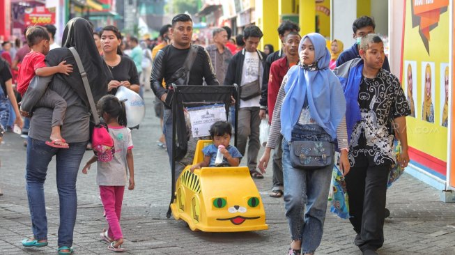
[[[356,157],[346,175],[350,223],[358,236],[355,245],[362,251],[378,249],[384,243],[384,210],[390,164],[372,164],[367,157]]]

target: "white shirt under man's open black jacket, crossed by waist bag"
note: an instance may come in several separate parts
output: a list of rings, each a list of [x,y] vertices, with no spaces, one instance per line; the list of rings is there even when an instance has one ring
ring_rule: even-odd
[[[240,86],[243,86],[249,82],[256,81],[257,79],[259,79],[260,75],[261,75],[261,73],[260,73],[260,69],[259,69],[258,53],[245,51],[245,60],[243,61],[243,68],[242,68],[242,84],[240,84]],[[240,99],[240,108],[260,107],[261,106],[261,105],[259,105],[260,99],[261,99],[261,95],[258,95],[256,98],[252,98],[247,101]]]

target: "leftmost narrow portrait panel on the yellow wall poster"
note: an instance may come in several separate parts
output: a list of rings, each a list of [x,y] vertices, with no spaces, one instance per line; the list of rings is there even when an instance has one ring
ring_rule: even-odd
[[[419,114],[417,109],[417,62],[415,61],[404,61],[404,83],[405,86],[403,91],[408,100],[409,107],[411,109],[410,117],[418,118]]]

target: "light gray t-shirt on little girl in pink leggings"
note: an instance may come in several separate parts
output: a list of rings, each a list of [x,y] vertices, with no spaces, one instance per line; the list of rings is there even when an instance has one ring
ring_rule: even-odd
[[[125,186],[128,164],[126,153],[133,148],[131,130],[128,127],[110,127],[115,153],[109,162],[97,162],[96,182],[100,186]]]

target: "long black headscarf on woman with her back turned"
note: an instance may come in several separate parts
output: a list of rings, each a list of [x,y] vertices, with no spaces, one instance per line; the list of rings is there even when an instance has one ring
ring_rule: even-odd
[[[112,75],[96,48],[91,24],[82,17],[70,20],[63,31],[62,42],[62,47],[74,47],[79,53],[84,70],[87,72],[93,98],[98,102],[103,95],[107,94],[107,84],[111,81]],[[77,89],[78,93],[79,89]],[[85,91],[83,93],[85,94]]]

